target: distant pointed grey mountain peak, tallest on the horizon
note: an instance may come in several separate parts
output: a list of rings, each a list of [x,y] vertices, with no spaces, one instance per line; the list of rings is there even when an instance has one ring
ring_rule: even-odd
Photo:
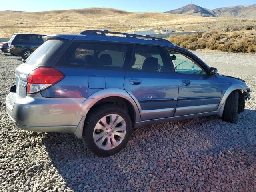
[[[189,4],[178,9],[166,11],[165,13],[196,15],[196,16],[203,16],[203,17],[216,17],[216,14],[214,11],[210,9],[202,8],[194,4]]]

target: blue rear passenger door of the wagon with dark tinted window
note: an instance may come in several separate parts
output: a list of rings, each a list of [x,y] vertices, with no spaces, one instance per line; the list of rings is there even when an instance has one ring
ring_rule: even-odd
[[[135,45],[132,64],[125,72],[124,89],[137,102],[141,120],[173,116],[178,80],[166,50]]]

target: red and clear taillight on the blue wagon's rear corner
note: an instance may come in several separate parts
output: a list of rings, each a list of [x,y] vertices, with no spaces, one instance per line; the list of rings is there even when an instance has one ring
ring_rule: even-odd
[[[55,68],[39,67],[28,75],[27,94],[38,93],[58,83],[65,75]]]

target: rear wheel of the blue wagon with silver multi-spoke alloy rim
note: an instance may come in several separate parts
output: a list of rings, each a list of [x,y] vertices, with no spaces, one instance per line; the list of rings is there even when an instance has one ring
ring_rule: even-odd
[[[83,142],[96,155],[110,156],[126,146],[131,132],[132,121],[125,110],[111,104],[102,104],[86,116]]]

